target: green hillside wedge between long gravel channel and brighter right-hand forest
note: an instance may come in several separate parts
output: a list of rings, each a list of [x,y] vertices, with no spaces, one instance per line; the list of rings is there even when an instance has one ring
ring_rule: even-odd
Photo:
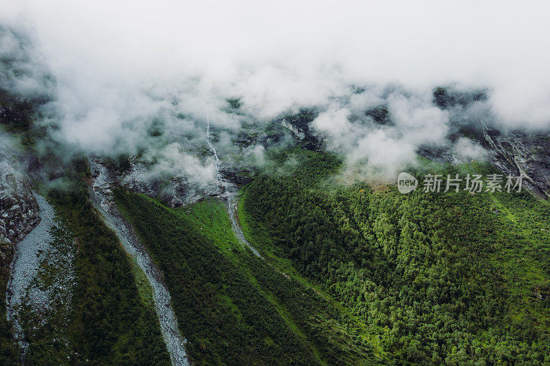
[[[192,363],[373,363],[357,323],[236,240],[222,201],[169,209],[123,190],[115,200],[164,271]]]

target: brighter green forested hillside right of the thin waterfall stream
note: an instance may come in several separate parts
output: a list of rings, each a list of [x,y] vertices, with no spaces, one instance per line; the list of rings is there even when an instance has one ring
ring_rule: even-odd
[[[276,157],[289,160],[298,161],[292,172],[270,171],[246,187],[251,240],[269,243],[351,309],[380,340],[384,362],[550,363],[546,202],[342,186],[327,183],[340,165],[334,157]]]

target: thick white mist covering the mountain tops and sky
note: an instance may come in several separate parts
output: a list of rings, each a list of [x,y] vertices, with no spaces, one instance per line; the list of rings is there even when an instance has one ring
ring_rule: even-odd
[[[48,95],[41,123],[55,126],[54,140],[140,155],[153,176],[214,179],[212,159],[196,153],[207,120],[230,156],[243,126],[263,130],[309,108],[311,129],[350,172],[394,179],[421,146],[482,157],[475,143],[449,139],[466,124],[549,127],[547,5],[472,4],[10,3],[0,18],[3,59],[12,58],[2,89]],[[454,99],[436,100],[437,87]],[[239,155],[262,161],[265,147]]]

